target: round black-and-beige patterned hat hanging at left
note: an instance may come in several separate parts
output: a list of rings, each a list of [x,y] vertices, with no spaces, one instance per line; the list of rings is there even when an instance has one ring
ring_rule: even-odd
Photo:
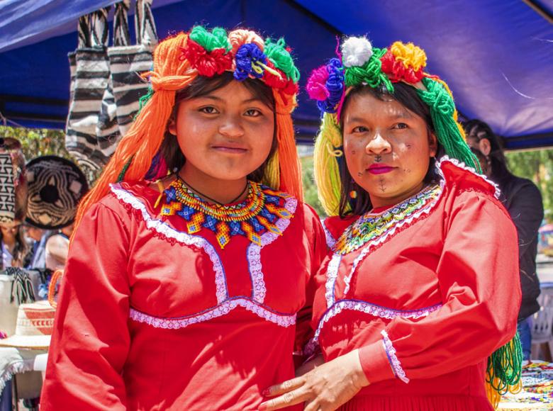
[[[26,221],[45,230],[72,224],[77,205],[89,188],[81,169],[68,159],[49,155],[28,162],[26,175]]]

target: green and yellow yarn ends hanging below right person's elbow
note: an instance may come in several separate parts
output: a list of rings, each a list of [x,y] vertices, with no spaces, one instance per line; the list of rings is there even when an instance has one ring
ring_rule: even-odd
[[[498,393],[504,394],[508,391],[509,385],[518,384],[522,367],[523,348],[517,332],[510,342],[488,357],[486,381]]]

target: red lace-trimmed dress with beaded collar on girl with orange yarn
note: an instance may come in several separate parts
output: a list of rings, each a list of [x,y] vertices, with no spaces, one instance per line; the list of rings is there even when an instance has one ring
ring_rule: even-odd
[[[294,377],[326,254],[315,212],[254,183],[224,208],[164,193],[115,184],[79,225],[41,410],[253,410]]]

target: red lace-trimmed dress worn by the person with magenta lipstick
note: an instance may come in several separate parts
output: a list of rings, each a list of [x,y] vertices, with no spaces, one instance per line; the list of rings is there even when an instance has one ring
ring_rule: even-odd
[[[516,332],[516,230],[493,184],[445,157],[441,179],[386,210],[328,218],[315,280],[327,361],[359,349],[370,385],[343,410],[493,410],[487,357]]]

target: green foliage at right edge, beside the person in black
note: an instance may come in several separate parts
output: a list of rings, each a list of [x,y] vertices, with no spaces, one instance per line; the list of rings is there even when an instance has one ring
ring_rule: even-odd
[[[506,152],[510,171],[535,182],[542,192],[545,218],[553,222],[553,150]]]

